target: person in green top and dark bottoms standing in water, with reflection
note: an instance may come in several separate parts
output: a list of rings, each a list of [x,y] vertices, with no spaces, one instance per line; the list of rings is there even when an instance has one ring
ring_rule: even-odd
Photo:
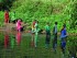
[[[50,46],[50,40],[51,40],[51,27],[50,27],[50,23],[46,24],[46,26],[45,26],[45,32],[46,32],[45,44],[46,44],[46,48],[48,48],[48,46]]]

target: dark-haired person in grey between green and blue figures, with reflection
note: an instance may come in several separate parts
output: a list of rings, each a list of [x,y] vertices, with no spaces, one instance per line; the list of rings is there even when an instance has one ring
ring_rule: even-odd
[[[57,22],[55,22],[55,26],[54,26],[54,30],[53,30],[53,35],[54,35],[53,49],[56,51],[56,46],[57,46]]]

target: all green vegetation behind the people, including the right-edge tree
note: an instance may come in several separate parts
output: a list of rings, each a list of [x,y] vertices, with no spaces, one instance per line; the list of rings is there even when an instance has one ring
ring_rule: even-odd
[[[67,30],[76,28],[76,0],[16,0],[12,3],[10,12],[15,11],[15,18],[32,23],[38,20],[40,27],[44,28],[46,22],[53,26],[58,22],[58,28],[66,22]],[[3,22],[3,12],[0,12],[0,20]]]

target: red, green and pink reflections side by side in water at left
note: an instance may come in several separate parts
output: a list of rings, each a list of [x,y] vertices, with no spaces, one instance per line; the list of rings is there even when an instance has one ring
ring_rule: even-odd
[[[9,34],[8,32],[4,33],[4,48],[8,48],[9,46],[11,48],[14,48],[16,45],[20,45],[21,43],[21,33],[18,32],[16,35]]]

